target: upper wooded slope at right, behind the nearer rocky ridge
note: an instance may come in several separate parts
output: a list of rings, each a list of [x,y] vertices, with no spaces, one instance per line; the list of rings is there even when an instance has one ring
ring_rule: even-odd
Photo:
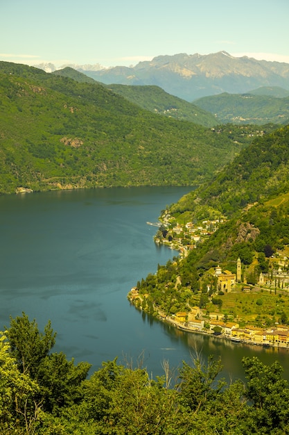
[[[289,126],[257,138],[210,183],[172,206],[172,213],[191,211],[193,218],[201,220],[210,209],[231,216],[247,204],[264,202],[288,192],[288,143]]]

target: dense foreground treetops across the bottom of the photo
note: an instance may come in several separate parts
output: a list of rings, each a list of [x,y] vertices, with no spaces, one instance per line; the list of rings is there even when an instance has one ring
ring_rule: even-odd
[[[221,361],[198,354],[178,372],[164,361],[157,379],[117,359],[87,378],[87,363],[50,352],[54,338],[50,323],[42,334],[24,313],[1,333],[1,434],[289,433],[289,389],[277,362],[243,359],[245,383],[227,384]]]

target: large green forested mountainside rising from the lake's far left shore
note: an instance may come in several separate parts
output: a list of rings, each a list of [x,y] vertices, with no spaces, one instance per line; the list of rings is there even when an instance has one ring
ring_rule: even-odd
[[[13,63],[0,63],[0,101],[1,193],[193,185],[264,131],[167,119],[98,83]]]

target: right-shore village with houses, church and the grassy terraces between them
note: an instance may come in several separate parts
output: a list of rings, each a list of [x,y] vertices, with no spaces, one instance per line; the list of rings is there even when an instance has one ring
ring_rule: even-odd
[[[171,249],[178,250],[182,257],[186,256],[190,249],[196,249],[198,244],[202,243],[204,238],[209,237],[213,231],[216,231],[224,221],[205,220],[198,226],[192,222],[183,226],[179,223],[168,225],[168,222],[171,222],[170,215],[164,214],[155,236],[155,243],[168,245]],[[219,265],[212,268],[209,272],[215,284],[207,285],[207,296],[208,301],[213,302],[211,304],[211,306],[215,307],[213,311],[208,304],[205,306],[201,306],[201,304],[191,306],[188,303],[186,311],[165,313],[159,309],[157,304],[153,304],[153,310],[150,310],[150,313],[184,331],[211,334],[236,343],[289,347],[289,327],[287,326],[288,318],[286,316],[283,318],[284,321],[281,322],[274,319],[274,316],[272,322],[267,322],[265,316],[260,315],[261,311],[259,310],[258,315],[252,316],[252,324],[250,324],[248,316],[246,316],[245,321],[245,315],[243,317],[240,313],[236,313],[236,310],[222,309],[222,299],[220,299],[222,295],[226,299],[231,297],[230,303],[232,306],[242,304],[242,299],[244,301],[247,295],[251,301],[254,301],[257,308],[261,308],[263,300],[268,295],[273,294],[277,298],[277,312],[281,316],[284,314],[280,307],[285,302],[284,295],[287,299],[289,292],[288,258],[277,253],[270,260],[272,262],[270,273],[261,272],[259,280],[254,286],[247,284],[247,269],[242,265],[240,258],[236,260],[236,273],[230,270],[222,270]],[[179,284],[178,280],[177,284]],[[177,284],[175,288],[177,288]],[[148,294],[140,292],[139,288],[134,287],[130,290],[128,299],[138,309],[146,311]],[[247,304],[247,301],[245,304]],[[245,313],[244,307],[243,310]]]

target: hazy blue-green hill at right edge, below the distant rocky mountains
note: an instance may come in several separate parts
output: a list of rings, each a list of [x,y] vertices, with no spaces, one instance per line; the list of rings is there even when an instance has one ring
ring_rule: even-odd
[[[195,100],[194,104],[215,115],[219,123],[288,124],[289,120],[289,97],[224,92],[200,98]]]

